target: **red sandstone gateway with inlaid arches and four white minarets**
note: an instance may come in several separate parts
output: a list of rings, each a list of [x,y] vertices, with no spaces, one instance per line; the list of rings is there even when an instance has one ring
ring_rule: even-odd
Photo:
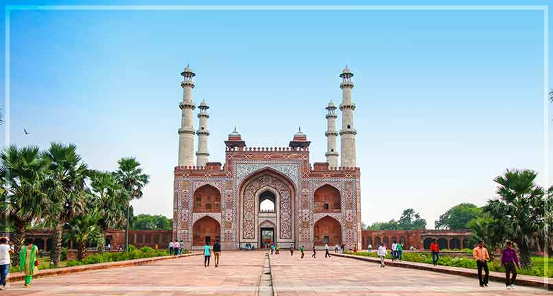
[[[326,108],[327,162],[314,164],[309,162],[310,142],[301,130],[285,147],[250,147],[234,130],[224,141],[224,164],[210,162],[209,107],[204,101],[197,106],[196,128],[192,99],[196,74],[187,66],[181,75],[174,239],[183,240],[186,249],[198,249],[217,239],[223,249],[246,243],[259,248],[273,242],[281,248],[325,243],[361,248],[361,174],[355,166],[353,73],[347,67],[340,74],[342,127],[336,129],[338,108],[330,102]],[[338,136],[340,150],[336,148]]]

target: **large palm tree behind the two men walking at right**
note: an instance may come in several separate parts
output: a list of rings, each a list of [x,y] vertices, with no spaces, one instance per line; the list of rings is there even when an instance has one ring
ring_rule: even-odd
[[[517,244],[523,267],[532,265],[532,248],[545,227],[545,192],[534,183],[536,177],[534,171],[517,169],[495,177],[499,198],[489,200],[483,211],[497,220],[495,230],[503,229],[506,238]]]

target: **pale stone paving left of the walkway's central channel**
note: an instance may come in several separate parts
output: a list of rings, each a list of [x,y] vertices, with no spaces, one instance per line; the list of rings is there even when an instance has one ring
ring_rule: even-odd
[[[132,267],[84,271],[9,284],[1,295],[256,295],[265,253],[221,254],[204,267],[203,256],[163,260]]]

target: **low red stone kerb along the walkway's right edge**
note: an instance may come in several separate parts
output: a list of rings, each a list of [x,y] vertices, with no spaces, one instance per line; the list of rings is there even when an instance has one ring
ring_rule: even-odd
[[[333,254],[333,255],[338,257],[351,258],[355,260],[375,262],[380,264],[380,259],[375,257],[357,256],[357,255],[349,255],[349,254]],[[419,270],[425,270],[425,271],[436,271],[439,273],[449,273],[453,275],[463,275],[467,277],[472,277],[475,279],[475,281],[478,281],[478,271],[476,269],[466,269],[462,267],[445,267],[441,265],[434,266],[432,264],[426,264],[426,263],[416,263],[416,262],[408,262],[408,261],[398,262],[398,261],[391,261],[391,260],[386,260],[386,265],[392,266],[392,267],[403,267],[403,268],[419,269]],[[490,271],[489,278],[490,280],[493,280],[493,281],[505,282],[505,273]],[[543,277],[537,277],[532,275],[517,275],[517,285],[548,288],[548,290],[553,291],[553,281],[550,281],[547,284],[545,284]]]

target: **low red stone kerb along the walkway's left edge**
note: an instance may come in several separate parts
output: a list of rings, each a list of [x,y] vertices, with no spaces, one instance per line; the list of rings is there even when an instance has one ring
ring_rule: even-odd
[[[64,275],[68,273],[77,273],[82,271],[93,271],[97,269],[110,269],[114,267],[129,267],[129,266],[141,265],[141,264],[150,263],[150,262],[157,262],[161,260],[170,260],[175,258],[183,258],[183,257],[199,256],[199,255],[202,255],[202,253],[183,254],[179,256],[151,257],[151,258],[124,260],[124,261],[98,263],[98,264],[86,264],[86,265],[78,265],[75,267],[60,267],[56,269],[43,269],[41,271],[38,271],[38,273],[34,274],[33,278],[48,277],[52,275]],[[23,281],[24,279],[25,279],[24,273],[21,273],[21,272],[10,273],[8,274],[7,282],[19,282],[19,281]]]

